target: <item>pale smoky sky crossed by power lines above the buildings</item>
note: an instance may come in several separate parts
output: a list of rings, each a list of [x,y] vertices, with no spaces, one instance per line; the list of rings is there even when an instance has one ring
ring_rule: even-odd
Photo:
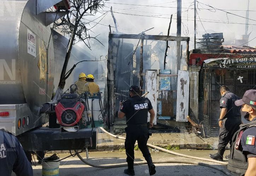
[[[205,5],[204,5],[205,4]],[[209,6],[211,7],[209,7]],[[171,23],[170,34],[176,34],[176,12],[177,1],[175,0],[109,0],[106,2],[105,7],[88,20],[95,20],[98,22],[97,26],[93,28],[91,36],[98,35],[101,42],[105,45],[102,47],[98,45],[98,42],[91,40],[94,44],[92,55],[97,57],[98,55],[106,55],[107,41],[109,27],[113,26],[112,31],[116,31],[114,28],[114,21],[110,13],[110,7],[112,6],[115,18],[117,20],[117,28],[121,33],[138,34],[144,30],[154,27],[154,29],[147,31],[146,34],[157,35],[163,32],[167,35],[168,25],[170,21],[170,15],[173,14],[173,20]],[[194,10],[193,1],[182,0],[182,28],[181,36],[190,37],[190,49],[193,49],[194,42]],[[223,32],[225,44],[229,43],[229,40],[242,39],[242,35],[245,32],[245,17],[247,10],[247,0],[199,0],[196,3],[197,9],[197,38],[201,38],[204,33]],[[212,8],[214,7],[214,8]],[[207,10],[208,9],[208,10]],[[220,9],[220,10],[217,10]],[[256,31],[253,29],[256,27],[256,2],[250,1],[249,7],[249,40],[256,37]],[[224,10],[226,12],[223,12]],[[233,14],[230,14],[233,13]],[[234,15],[235,14],[235,15]],[[238,17],[240,15],[242,17]],[[199,19],[200,17],[200,19]],[[201,20],[201,21],[200,21]],[[255,20],[255,21],[254,21]],[[236,24],[232,24],[236,23]],[[94,25],[95,23],[91,23]],[[249,46],[256,46],[256,39],[247,44]],[[82,48],[83,44],[80,44]]]

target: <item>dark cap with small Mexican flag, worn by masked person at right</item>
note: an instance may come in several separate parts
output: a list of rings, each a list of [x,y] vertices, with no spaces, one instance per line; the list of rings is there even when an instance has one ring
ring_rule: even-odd
[[[256,90],[246,90],[242,99],[235,101],[236,106],[249,105],[256,107]]]

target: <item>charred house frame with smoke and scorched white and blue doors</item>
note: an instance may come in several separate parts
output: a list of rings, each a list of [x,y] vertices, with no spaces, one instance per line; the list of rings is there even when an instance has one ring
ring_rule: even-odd
[[[167,41],[169,41],[168,45]],[[114,125],[119,101],[129,98],[129,87],[132,85],[139,85],[142,94],[150,92],[147,98],[151,100],[157,112],[155,125],[159,122],[157,120],[187,121],[189,74],[188,71],[184,72],[186,80],[182,88],[183,97],[187,98],[187,101],[177,102],[178,88],[182,86],[177,86],[180,82],[178,81],[179,69],[176,67],[176,41],[186,46],[184,56],[178,58],[179,61],[184,60],[182,63],[185,62],[187,65],[189,37],[146,35],[145,33],[109,34],[108,75],[105,90],[105,115],[109,118],[109,127]],[[169,51],[165,57],[167,47]],[[163,69],[164,65],[165,69]],[[184,94],[185,90],[187,96]],[[176,108],[177,103],[182,105]],[[180,118],[177,118],[176,112],[179,112]]]

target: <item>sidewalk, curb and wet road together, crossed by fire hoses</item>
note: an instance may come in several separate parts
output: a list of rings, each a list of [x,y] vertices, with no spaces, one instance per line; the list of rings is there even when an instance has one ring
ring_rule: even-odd
[[[125,133],[120,133],[119,136],[125,137]],[[174,152],[182,153],[185,155],[209,158],[210,153],[216,153],[218,144],[218,138],[202,138],[194,133],[188,132],[156,132],[153,133],[149,138],[148,143],[164,147],[165,149],[172,150]],[[179,150],[180,149],[180,150]],[[204,150],[197,150],[204,149]],[[193,161],[202,162],[210,165],[217,166],[227,171],[226,166],[200,161],[197,159],[184,158],[180,156],[171,155],[169,153],[160,152],[155,149],[150,149],[153,162],[159,161]],[[225,155],[229,154],[229,150],[226,150]],[[46,156],[51,156],[52,152],[47,153]],[[59,151],[58,156],[65,158],[70,153],[61,153]],[[86,154],[81,153],[81,156],[86,159]],[[210,159],[210,158],[209,158]],[[145,161],[140,150],[135,147],[135,162]],[[98,133],[98,148],[97,150],[89,151],[89,162],[92,164],[115,164],[115,163],[126,163],[126,153],[124,150],[124,140],[117,139],[109,136],[99,129]],[[80,175],[125,175],[122,168],[112,169],[100,169],[93,168],[89,165],[84,164],[80,159],[75,157],[69,157],[60,162],[59,174],[64,176],[80,176]],[[135,165],[135,175],[149,175],[147,165]],[[198,176],[198,175],[226,175],[221,171],[213,168],[209,168],[202,165],[184,164],[184,163],[164,163],[156,164],[156,175],[173,175],[173,176]],[[42,175],[42,166],[33,166],[34,175]]]

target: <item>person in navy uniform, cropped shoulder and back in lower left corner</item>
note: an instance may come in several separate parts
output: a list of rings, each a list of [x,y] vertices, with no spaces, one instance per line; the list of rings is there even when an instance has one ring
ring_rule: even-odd
[[[0,130],[0,173],[11,176],[33,176],[33,170],[16,136]]]

